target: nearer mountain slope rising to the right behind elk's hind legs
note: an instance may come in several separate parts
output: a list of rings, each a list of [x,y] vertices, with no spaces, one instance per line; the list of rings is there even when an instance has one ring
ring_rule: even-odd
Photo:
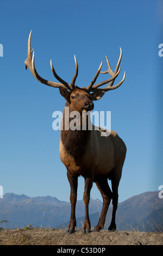
[[[133,196],[118,204],[116,225],[118,230],[128,231],[163,231],[163,199],[158,197],[158,191],[145,192]],[[105,221],[105,229],[111,222],[112,209],[109,208]],[[90,215],[93,227],[98,222],[99,214]],[[77,228],[82,228],[84,216],[77,218]],[[62,227],[68,224],[64,223]]]

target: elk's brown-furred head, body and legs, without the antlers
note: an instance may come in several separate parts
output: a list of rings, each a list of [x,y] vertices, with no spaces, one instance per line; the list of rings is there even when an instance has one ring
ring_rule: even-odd
[[[91,106],[91,95],[79,88],[74,89],[72,93],[63,93],[61,90],[60,93],[67,100],[66,107],[69,107],[70,113],[72,111],[78,111],[80,113],[80,121],[82,122],[84,104],[85,102],[90,102]],[[74,98],[71,99],[71,96]],[[90,109],[88,108],[86,110]],[[89,117],[87,117],[87,119],[88,118]],[[63,113],[63,120],[65,120],[65,111]],[[70,121],[71,118],[69,119],[69,122]],[[109,229],[116,229],[115,213],[118,202],[117,191],[126,156],[126,145],[116,132],[110,131],[110,135],[106,137],[101,136],[102,133],[103,131],[99,127],[98,130],[96,130],[95,126],[93,126],[91,131],[83,131],[82,129],[79,131],[61,131],[60,158],[67,168],[67,177],[71,186],[70,200],[72,210],[70,223],[67,227],[67,232],[69,233],[72,233],[76,226],[75,205],[77,200],[77,178],[79,175],[82,175],[85,179],[83,196],[85,203],[85,221],[83,225],[83,233],[85,233],[85,231],[90,231],[88,205],[93,181],[96,182],[103,197],[103,209],[95,230],[99,231],[104,227],[105,216],[111,199],[113,212]],[[108,178],[111,179],[112,182],[112,192],[107,182]]]

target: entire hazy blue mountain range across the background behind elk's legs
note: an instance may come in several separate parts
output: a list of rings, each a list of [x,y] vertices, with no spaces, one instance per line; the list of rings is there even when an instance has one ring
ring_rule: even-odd
[[[118,230],[163,231],[163,199],[158,191],[145,192],[133,196],[118,204],[116,224]],[[93,227],[98,218],[103,203],[99,199],[90,199],[89,213]],[[108,229],[111,220],[111,205],[106,216],[105,227]],[[6,193],[0,199],[0,227],[9,229],[27,227],[66,228],[70,221],[70,202],[60,201],[56,197],[28,197]],[[77,228],[84,223],[84,202],[77,201]]]

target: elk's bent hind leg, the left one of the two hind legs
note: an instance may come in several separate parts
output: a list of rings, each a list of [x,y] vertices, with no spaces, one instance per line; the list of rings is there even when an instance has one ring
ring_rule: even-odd
[[[106,214],[112,198],[112,192],[108,185],[108,178],[106,177],[98,179],[98,181],[96,181],[96,186],[98,190],[101,192],[102,198],[103,198],[103,208],[102,208],[101,216],[99,217],[98,224],[94,228],[95,231],[99,231],[104,228]]]

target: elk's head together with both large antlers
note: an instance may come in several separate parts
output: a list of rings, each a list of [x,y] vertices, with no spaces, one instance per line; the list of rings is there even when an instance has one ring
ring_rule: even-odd
[[[119,68],[120,63],[121,63],[121,58],[122,58],[122,50],[120,48],[120,58],[118,59],[115,71],[113,72],[111,70],[109,60],[106,57],[106,61],[108,63],[108,70],[101,72],[101,68],[102,68],[102,62],[101,62],[101,65],[99,66],[95,77],[93,78],[93,80],[91,81],[89,86],[87,86],[86,88],[85,87],[79,88],[79,87],[75,86],[76,78],[78,76],[78,63],[77,63],[76,56],[74,56],[74,60],[76,63],[76,70],[75,70],[74,76],[72,78],[71,84],[62,80],[62,78],[60,78],[57,75],[57,73],[54,70],[52,60],[51,60],[51,69],[52,69],[53,75],[60,83],[45,80],[41,76],[39,76],[39,74],[37,74],[37,71],[35,69],[34,49],[31,51],[31,42],[30,42],[31,35],[32,35],[32,31],[29,34],[27,59],[24,62],[26,69],[28,67],[30,72],[32,72],[33,76],[39,82],[46,84],[47,86],[59,88],[60,94],[65,97],[66,101],[70,105],[70,108],[72,108],[73,110],[76,110],[79,112],[92,110],[93,109],[92,101],[99,100],[105,94],[105,92],[108,92],[109,90],[114,90],[114,89],[120,87],[125,79],[125,72],[124,72],[124,76],[123,76],[121,82],[119,82],[118,84],[113,86],[115,78],[118,76],[118,74],[120,73],[120,70],[121,70],[121,68]],[[32,57],[32,53],[33,53],[33,57]],[[101,72],[102,74],[109,73],[111,78],[109,78],[108,80],[105,80],[101,83],[95,84],[97,77],[99,75],[99,72]],[[99,87],[103,86],[104,84],[108,84],[108,85],[104,88],[99,88]]]

